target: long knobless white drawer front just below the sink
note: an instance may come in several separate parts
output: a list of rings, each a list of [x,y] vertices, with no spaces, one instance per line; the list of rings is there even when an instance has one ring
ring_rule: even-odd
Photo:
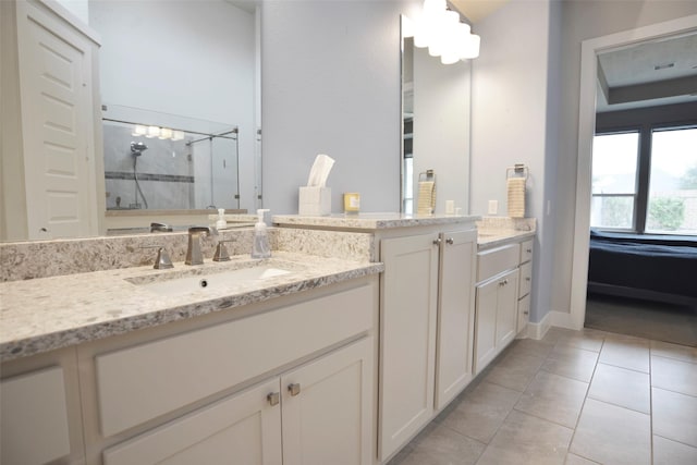
[[[105,437],[369,330],[370,284],[96,357]]]

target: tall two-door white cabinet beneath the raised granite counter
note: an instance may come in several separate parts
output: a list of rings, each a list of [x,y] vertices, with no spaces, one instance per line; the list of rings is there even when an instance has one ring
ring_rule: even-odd
[[[380,241],[384,461],[472,380],[476,230]]]

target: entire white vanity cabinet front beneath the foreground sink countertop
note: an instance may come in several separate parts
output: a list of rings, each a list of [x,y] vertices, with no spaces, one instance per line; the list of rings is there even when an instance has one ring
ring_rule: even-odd
[[[1,463],[371,465],[378,280],[3,363]]]

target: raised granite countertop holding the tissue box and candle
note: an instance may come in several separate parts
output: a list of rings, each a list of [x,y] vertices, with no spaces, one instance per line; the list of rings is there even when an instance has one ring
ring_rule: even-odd
[[[274,215],[273,224],[291,228],[322,228],[341,230],[381,230],[439,224],[456,224],[476,221],[480,217],[461,215],[406,215],[406,213],[334,213],[327,217]]]

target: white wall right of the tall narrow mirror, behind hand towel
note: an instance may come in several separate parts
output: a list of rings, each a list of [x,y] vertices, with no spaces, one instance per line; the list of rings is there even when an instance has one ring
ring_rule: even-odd
[[[526,217],[538,221],[530,320],[539,322],[549,311],[553,241],[546,216],[550,3],[513,1],[473,30],[481,48],[473,63],[470,211],[487,215],[488,200],[498,200],[506,216],[506,168],[529,168]]]

